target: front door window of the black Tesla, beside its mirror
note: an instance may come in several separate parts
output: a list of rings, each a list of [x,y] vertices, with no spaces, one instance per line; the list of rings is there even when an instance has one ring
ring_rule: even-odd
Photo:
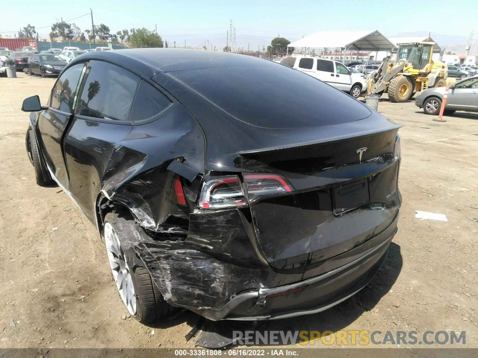
[[[65,113],[73,113],[73,101],[75,100],[78,82],[85,67],[84,63],[78,63],[68,68],[56,82],[52,90],[50,107]]]

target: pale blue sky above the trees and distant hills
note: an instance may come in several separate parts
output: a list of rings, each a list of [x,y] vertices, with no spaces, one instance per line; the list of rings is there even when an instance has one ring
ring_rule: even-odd
[[[0,0],[0,4],[5,0]],[[473,2],[471,2],[473,3]],[[469,3],[469,4],[471,4]],[[453,1],[400,2],[378,0],[225,0],[225,1],[57,1],[29,3],[16,16],[1,17],[0,34],[10,34],[28,23],[36,28],[55,21],[76,18],[93,9],[95,24],[104,23],[111,32],[123,28],[147,27],[171,45],[197,46],[209,40],[209,45],[224,47],[229,19],[236,28],[238,47],[251,50],[267,46],[273,37],[294,41],[303,35],[322,30],[379,30],[386,36],[400,32],[426,31],[447,35],[468,36],[478,25],[478,6],[460,6]],[[54,4],[54,5],[53,5]],[[5,9],[5,6],[2,7]],[[412,8],[414,13],[407,13]],[[466,12],[463,13],[463,10]],[[430,19],[428,21],[428,19]],[[468,20],[467,20],[468,19]],[[73,20],[82,30],[91,28],[91,19],[84,16]],[[38,30],[47,37],[49,28]]]

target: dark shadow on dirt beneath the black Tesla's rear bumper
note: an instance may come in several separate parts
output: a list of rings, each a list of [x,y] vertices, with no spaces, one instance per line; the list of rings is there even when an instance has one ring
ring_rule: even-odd
[[[379,272],[367,286],[348,300],[324,312],[282,320],[259,322],[228,320],[213,322],[206,320],[201,325],[202,332],[196,335],[196,341],[203,347],[217,348],[228,345],[230,347],[233,340],[233,331],[259,331],[262,335],[266,331],[284,331],[285,333],[291,331],[292,334],[295,331],[318,331],[321,333],[331,331],[335,333],[353,325],[354,321],[364,312],[372,310],[395,284],[402,271],[402,266],[403,259],[400,246],[392,242],[387,259],[380,267]],[[177,318],[179,321],[173,320],[171,323],[178,324],[186,321],[189,326],[194,326],[198,321],[198,316],[192,316],[191,312],[183,314],[182,318]]]

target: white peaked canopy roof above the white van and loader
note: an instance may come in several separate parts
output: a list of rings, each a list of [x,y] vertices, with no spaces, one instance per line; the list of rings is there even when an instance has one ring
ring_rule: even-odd
[[[344,48],[347,51],[391,51],[396,46],[377,30],[320,31],[287,47]]]

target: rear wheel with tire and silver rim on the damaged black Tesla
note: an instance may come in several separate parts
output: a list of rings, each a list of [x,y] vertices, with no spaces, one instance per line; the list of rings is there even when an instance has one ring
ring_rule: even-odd
[[[148,270],[138,265],[138,260],[134,260],[136,254],[133,249],[125,244],[126,235],[136,230],[138,230],[138,226],[129,213],[109,212],[105,216],[103,237],[111,272],[120,297],[134,319],[142,324],[151,324],[170,316],[177,308],[164,300]],[[115,240],[116,248],[112,247],[115,245]],[[119,254],[115,253],[115,250],[119,251]],[[120,263],[121,260],[122,263]],[[130,265],[133,266],[130,267]],[[120,267],[124,267],[124,269],[120,269]],[[126,279],[119,284],[118,277],[126,277]],[[129,282],[132,284],[132,292]],[[122,292],[123,284],[125,284],[126,292]],[[128,290],[130,291],[128,292]]]

